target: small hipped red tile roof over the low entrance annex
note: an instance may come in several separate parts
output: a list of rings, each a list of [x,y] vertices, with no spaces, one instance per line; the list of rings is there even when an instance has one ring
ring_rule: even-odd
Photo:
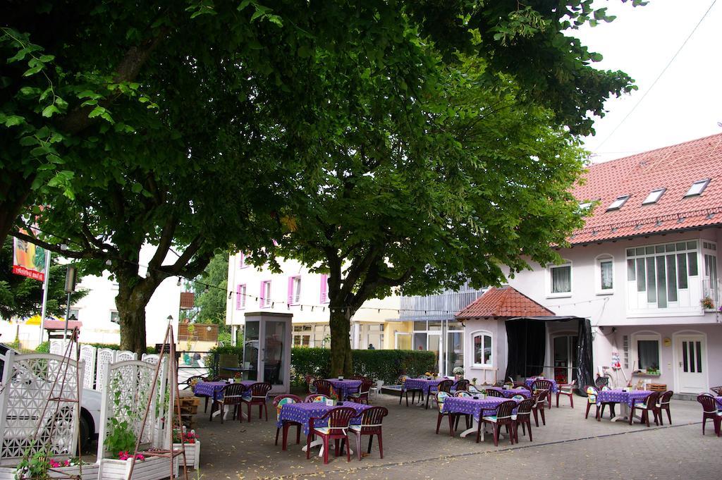
[[[547,310],[513,287],[492,287],[457,313],[456,318],[547,317],[554,315],[552,310]]]

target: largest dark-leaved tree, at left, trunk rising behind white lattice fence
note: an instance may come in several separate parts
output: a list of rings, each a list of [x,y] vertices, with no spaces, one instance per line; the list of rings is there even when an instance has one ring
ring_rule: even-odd
[[[6,6],[0,236],[30,205],[43,229],[30,240],[108,269],[121,345],[137,352],[160,282],[196,276],[217,248],[267,246],[290,180],[318,162],[311,147],[367,102],[412,105],[402,87],[435,68],[418,32],[461,12],[343,0]],[[146,244],[157,247],[147,269]]]

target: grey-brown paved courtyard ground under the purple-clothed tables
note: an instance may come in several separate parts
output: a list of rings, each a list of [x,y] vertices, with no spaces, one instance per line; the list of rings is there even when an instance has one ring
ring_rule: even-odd
[[[318,449],[306,460],[300,445],[290,442],[285,452],[274,445],[273,408],[269,422],[254,419],[251,424],[209,422],[200,414],[196,431],[202,440],[201,469],[193,478],[445,479],[453,474],[516,480],[521,472],[524,479],[722,479],[722,439],[712,434],[711,424],[707,435],[701,435],[696,401],[673,401],[674,425],[665,419],[664,427],[647,428],[609,422],[606,412],[604,420],[596,422],[594,408],[584,419],[584,398],[575,398],[575,409],[564,400],[560,409],[547,411],[547,426],[534,428],[534,442],[521,437],[518,445],[509,445],[507,439],[495,447],[490,435],[482,444],[473,436],[451,438],[445,422],[435,435],[435,410],[406,408],[397,398],[380,396],[373,403],[389,409],[383,460],[374,442],[371,455],[362,461],[352,458],[347,463],[344,456],[331,458],[327,466]]]

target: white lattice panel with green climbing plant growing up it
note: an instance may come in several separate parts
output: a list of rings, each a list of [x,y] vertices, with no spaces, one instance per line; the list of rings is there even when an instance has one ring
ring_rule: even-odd
[[[157,447],[153,425],[156,423],[157,395],[151,396],[155,366],[139,360],[116,362],[105,367],[105,385],[100,410],[98,458],[105,457],[105,439],[116,428],[140,433],[143,416],[149,406],[141,443]],[[156,389],[157,392],[157,389]]]

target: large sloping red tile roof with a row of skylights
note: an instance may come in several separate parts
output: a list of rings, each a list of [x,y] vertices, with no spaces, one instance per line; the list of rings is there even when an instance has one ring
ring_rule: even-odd
[[[573,244],[722,224],[722,134],[591,165],[585,177],[574,196],[599,204],[570,237]],[[684,198],[692,183],[706,178],[701,195]],[[659,201],[642,205],[658,188],[666,188]],[[606,211],[625,195],[621,209]]]

